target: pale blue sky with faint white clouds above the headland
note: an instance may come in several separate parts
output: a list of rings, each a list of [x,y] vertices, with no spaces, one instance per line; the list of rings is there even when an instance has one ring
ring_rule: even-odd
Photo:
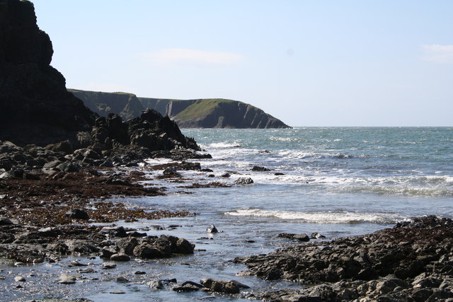
[[[33,0],[67,88],[228,98],[293,127],[453,126],[450,0]]]

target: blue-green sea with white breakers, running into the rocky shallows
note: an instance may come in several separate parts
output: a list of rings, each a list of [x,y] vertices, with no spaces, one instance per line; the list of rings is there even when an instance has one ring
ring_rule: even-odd
[[[453,127],[182,129],[182,132],[195,138],[204,152],[212,155],[209,159],[191,160],[212,172],[180,171],[183,182],[144,182],[165,187],[165,196],[116,200],[149,210],[183,209],[194,214],[118,224],[147,231],[149,235],[186,238],[196,245],[194,255],[119,264],[111,272],[99,273],[101,283],[88,279],[66,286],[64,291],[57,284],[52,287],[54,296],[122,302],[248,301],[247,295],[263,290],[304,286],[236,275],[246,267],[231,262],[235,257],[304,244],[279,238],[280,233],[309,236],[319,233],[326,238],[311,241],[326,245],[328,240],[372,233],[415,216],[453,216]],[[166,159],[148,161],[150,165],[166,162]],[[254,166],[268,170],[253,171]],[[147,170],[146,165],[141,169],[151,178],[161,174]],[[222,177],[225,173],[229,177]],[[251,178],[253,184],[234,185],[238,178]],[[213,182],[224,186],[187,188],[191,184]],[[219,233],[206,232],[212,225]],[[74,259],[66,261],[71,260]],[[95,266],[102,263],[99,259],[90,261]],[[57,277],[63,268],[64,262],[11,270],[35,269],[43,276]],[[137,277],[131,272],[134,269],[147,274]],[[130,282],[118,283],[115,281],[118,276]],[[159,290],[146,285],[147,281],[157,279],[175,278],[182,283],[207,277],[234,279],[251,289],[243,290],[242,298],[231,298],[202,291],[176,293],[170,285]],[[110,294],[114,290],[125,294]],[[33,293],[33,289],[29,292]],[[37,288],[34,297],[39,298],[42,295],[39,293]]]

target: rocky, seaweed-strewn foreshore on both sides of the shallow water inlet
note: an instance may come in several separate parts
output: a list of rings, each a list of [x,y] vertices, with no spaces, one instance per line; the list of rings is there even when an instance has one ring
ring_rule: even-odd
[[[175,161],[160,165],[147,165],[144,168],[147,170],[164,170],[161,175],[153,175],[154,179],[188,184],[192,183],[192,180],[181,177],[178,170],[201,170],[201,165],[199,163],[178,163]],[[152,181],[152,178],[147,178],[145,173],[139,170],[127,170],[126,168],[88,168],[81,169],[79,172],[65,173],[63,177],[61,176],[61,171],[54,171],[53,174],[47,175],[42,180],[10,178],[0,182],[0,197],[4,204],[0,216],[4,216],[11,210],[11,213],[13,213],[11,216],[13,224],[4,220],[4,225],[0,226],[2,257],[13,259],[16,261],[16,265],[23,265],[27,262],[35,264],[40,262],[59,263],[67,261],[74,255],[76,257],[99,256],[98,259],[101,260],[99,266],[108,262],[113,262],[115,265],[121,263],[127,266],[128,263],[133,265],[132,263],[140,259],[159,259],[159,257],[167,259],[174,255],[190,255],[194,250],[197,252],[195,245],[183,238],[164,235],[161,237],[147,236],[146,232],[141,233],[141,230],[122,226],[92,225],[92,223],[117,223],[117,221],[125,221],[125,224],[127,224],[136,221],[136,219],[194,215],[194,213],[188,211],[156,210],[147,212],[140,208],[130,209],[130,205],[125,207],[125,204],[121,202],[106,203],[104,201],[104,199],[114,195],[137,197],[165,194],[163,188],[144,187],[137,184],[137,182]],[[91,188],[88,190],[87,187],[81,185],[84,183],[89,183]],[[212,185],[221,187],[216,182],[212,182]],[[8,192],[5,191],[5,187],[8,188]],[[185,187],[202,186],[192,184]],[[50,188],[52,188],[52,194],[50,194]],[[61,200],[64,200],[64,202],[61,202]],[[18,207],[18,204],[21,204],[21,207]],[[71,214],[67,216],[67,213],[73,209],[86,210],[85,212],[91,220],[80,219],[80,216],[79,218],[71,218]],[[51,217],[51,219],[46,219],[46,217]],[[435,225],[440,222],[444,223],[445,226]],[[443,254],[433,258],[435,255],[432,255],[430,240],[426,236],[432,236],[433,230],[437,230],[437,228],[440,228],[442,240],[445,239],[448,242],[443,247]],[[446,228],[447,233],[444,232],[444,228]],[[407,231],[412,232],[411,238],[403,236],[407,235],[405,234]],[[227,294],[231,298],[261,299],[263,301],[304,301],[306,298],[313,301],[352,301],[355,299],[370,301],[369,299],[379,300],[384,298],[396,299],[396,301],[425,301],[420,300],[420,297],[428,299],[433,295],[432,299],[428,301],[435,301],[436,297],[453,298],[450,295],[453,289],[453,267],[446,272],[427,272],[428,267],[432,265],[431,262],[434,261],[432,259],[439,263],[437,267],[443,265],[443,267],[448,268],[452,265],[450,262],[453,260],[451,252],[453,238],[452,235],[449,235],[453,233],[452,231],[453,223],[451,220],[441,220],[428,216],[426,219],[415,219],[413,223],[403,223],[399,228],[385,228],[372,234],[337,240],[316,240],[275,250],[268,255],[246,256],[232,260],[238,264],[245,264],[249,268],[249,271],[239,272],[239,276],[256,276],[264,280],[285,279],[293,281],[295,284],[307,286],[305,289],[288,288],[269,291],[265,288],[255,288],[252,291],[241,291],[240,287],[236,289],[237,285],[229,284],[229,287],[226,286],[226,281],[220,283],[221,285],[215,285],[216,283],[208,281],[206,287],[204,284],[200,284],[199,280],[188,280],[190,282],[185,284],[170,282],[158,286],[160,288],[156,288],[156,290],[179,288],[179,291],[186,292],[204,289],[212,293]],[[400,235],[400,238],[391,238],[396,233]],[[425,234],[425,237],[420,238],[416,243],[423,245],[423,250],[414,251],[406,246],[408,242],[421,234]],[[108,240],[108,242],[105,243],[105,240]],[[421,263],[418,259],[418,253],[425,256],[424,259],[430,261],[423,262],[418,271],[408,276],[404,276],[401,272],[395,274],[393,271],[388,274],[378,273],[376,270],[369,269],[371,265],[358,269],[357,265],[362,265],[362,262],[369,264],[367,250],[370,248],[368,245],[376,240],[385,242],[380,246],[378,252],[382,255],[394,253],[391,245],[403,245],[406,249],[404,252],[411,250],[412,256],[408,257],[408,267],[414,265],[414,263],[415,265]],[[178,242],[180,242],[179,245]],[[13,246],[16,248],[4,248],[5,246],[11,247],[11,243],[14,243]],[[364,247],[365,243],[367,244],[366,247]],[[320,248],[320,245],[323,245],[322,248]],[[336,252],[336,257],[330,259],[332,250]],[[434,251],[439,252],[438,249]],[[320,261],[319,257],[323,257],[324,254],[328,256]],[[361,260],[356,260],[357,257],[361,257]],[[348,260],[344,258],[348,258]],[[295,264],[294,261],[296,261]],[[298,266],[298,261],[302,261],[303,269]],[[304,263],[308,263],[308,265]],[[73,265],[79,264],[74,262]],[[385,263],[379,265],[386,266]],[[350,272],[350,267],[354,267],[352,272]],[[302,271],[306,274],[297,275],[297,272],[302,274]],[[89,272],[89,270],[84,271],[82,269],[82,272]],[[79,275],[64,277],[64,274],[61,274],[61,278],[57,282],[59,284],[73,284],[81,280],[79,278],[83,274]],[[69,280],[64,278],[69,278]],[[220,282],[221,280],[217,281]],[[16,281],[16,284],[21,286],[20,281]],[[214,285],[211,289],[212,284]],[[152,286],[149,287],[153,288]],[[20,290],[20,287],[18,289]]]

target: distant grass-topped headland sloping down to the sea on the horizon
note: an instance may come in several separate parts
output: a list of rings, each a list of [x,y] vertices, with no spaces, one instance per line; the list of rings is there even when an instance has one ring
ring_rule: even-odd
[[[99,115],[107,116],[114,112],[125,120],[150,108],[161,115],[168,115],[183,128],[290,128],[263,110],[237,100],[171,100],[137,98],[131,93],[69,91]]]

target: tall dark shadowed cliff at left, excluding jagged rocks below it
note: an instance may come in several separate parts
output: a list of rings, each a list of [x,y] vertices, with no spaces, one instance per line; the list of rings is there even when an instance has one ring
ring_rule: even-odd
[[[96,115],[50,66],[52,42],[33,4],[0,0],[0,140],[45,145],[91,129]]]

